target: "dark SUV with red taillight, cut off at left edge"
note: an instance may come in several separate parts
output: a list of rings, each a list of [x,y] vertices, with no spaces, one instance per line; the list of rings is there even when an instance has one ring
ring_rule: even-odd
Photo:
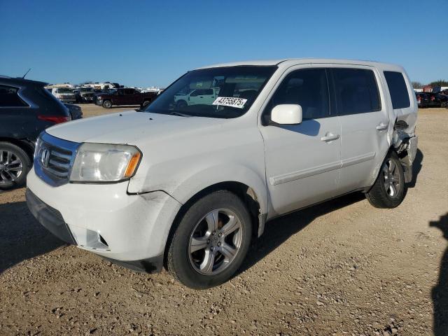
[[[46,83],[0,76],[0,189],[25,184],[34,144],[45,128],[71,120]]]

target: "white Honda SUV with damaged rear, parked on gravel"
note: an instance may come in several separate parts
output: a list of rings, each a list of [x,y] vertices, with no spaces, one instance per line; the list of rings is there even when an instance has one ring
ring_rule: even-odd
[[[204,104],[179,92],[219,87]],[[207,288],[237,272],[265,223],[363,191],[402,202],[417,104],[400,66],[341,59],[190,71],[145,111],[51,127],[36,144],[27,203],[61,239]]]

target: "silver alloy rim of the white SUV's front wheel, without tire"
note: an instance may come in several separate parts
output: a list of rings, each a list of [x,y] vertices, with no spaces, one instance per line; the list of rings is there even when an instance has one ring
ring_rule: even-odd
[[[233,260],[243,237],[241,221],[230,209],[215,209],[193,229],[188,255],[193,268],[204,275],[223,272]]]

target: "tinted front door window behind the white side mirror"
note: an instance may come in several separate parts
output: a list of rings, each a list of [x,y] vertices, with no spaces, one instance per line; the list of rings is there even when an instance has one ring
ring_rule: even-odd
[[[290,73],[276,90],[267,113],[276,105],[302,106],[303,119],[328,117],[328,83],[325,69],[297,70]]]

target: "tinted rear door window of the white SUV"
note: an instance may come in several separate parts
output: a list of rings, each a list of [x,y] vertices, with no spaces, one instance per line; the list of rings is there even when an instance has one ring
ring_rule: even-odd
[[[341,115],[379,111],[377,81],[373,71],[332,69],[337,111]]]

